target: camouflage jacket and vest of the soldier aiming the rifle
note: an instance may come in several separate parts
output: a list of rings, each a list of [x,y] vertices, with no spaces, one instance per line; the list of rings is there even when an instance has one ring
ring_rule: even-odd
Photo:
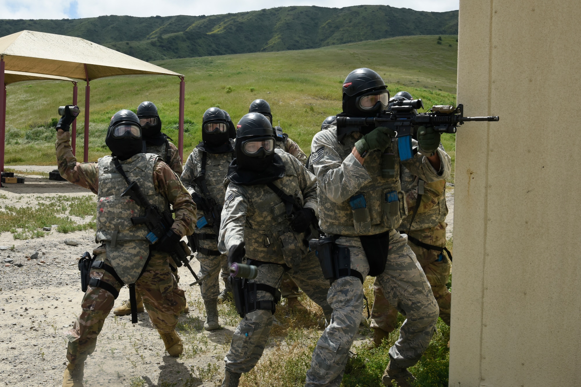
[[[394,172],[385,178],[381,174],[381,151],[369,152],[364,165],[352,155],[359,138],[361,133],[355,132],[340,144],[334,125],[313,137],[310,164],[317,176],[320,224],[325,233],[375,235],[397,228],[408,214],[400,186],[397,141],[393,139],[384,151],[393,154]],[[437,152],[439,171],[420,154],[401,165],[428,182],[445,179],[450,174],[450,156],[443,149]]]

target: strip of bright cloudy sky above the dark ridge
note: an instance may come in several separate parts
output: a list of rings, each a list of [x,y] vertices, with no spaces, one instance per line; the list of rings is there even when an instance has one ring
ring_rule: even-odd
[[[390,5],[396,8],[444,12],[458,9],[459,0],[0,0],[0,19],[76,19],[107,14],[131,16],[173,16],[235,13],[291,5],[342,8],[360,4]]]

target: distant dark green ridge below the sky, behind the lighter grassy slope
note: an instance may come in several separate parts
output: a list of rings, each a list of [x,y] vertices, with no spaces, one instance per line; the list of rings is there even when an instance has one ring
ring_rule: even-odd
[[[458,11],[421,12],[383,5],[291,6],[212,16],[0,20],[2,35],[21,30],[79,36],[152,61],[457,34]]]

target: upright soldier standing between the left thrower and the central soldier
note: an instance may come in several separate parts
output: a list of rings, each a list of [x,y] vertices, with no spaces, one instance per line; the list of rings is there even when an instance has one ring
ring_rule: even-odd
[[[224,178],[234,158],[235,129],[228,118],[220,108],[206,110],[202,118],[202,142],[188,156],[181,174],[181,181],[198,205],[198,227],[192,239],[200,262],[199,278],[205,278],[200,291],[206,307],[206,330],[220,328],[216,303],[220,293],[218,274],[221,266],[225,291],[229,289],[226,255],[220,254],[217,245],[226,192]]]

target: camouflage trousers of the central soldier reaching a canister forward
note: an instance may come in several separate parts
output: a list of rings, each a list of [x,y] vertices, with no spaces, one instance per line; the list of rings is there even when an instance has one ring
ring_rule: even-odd
[[[249,282],[266,284],[278,289],[283,273],[284,266],[282,265],[262,264],[258,266],[257,277]],[[303,258],[297,273],[291,269],[288,274],[299,283],[311,300],[321,306],[325,316],[331,315],[331,306],[327,302],[329,281],[323,278],[321,266],[314,253],[307,254]],[[274,300],[274,297],[266,291],[257,291],[256,300],[268,301]],[[270,310],[259,309],[246,314],[236,327],[230,350],[224,357],[226,369],[237,374],[252,370],[264,352],[271,327],[272,312]]]

